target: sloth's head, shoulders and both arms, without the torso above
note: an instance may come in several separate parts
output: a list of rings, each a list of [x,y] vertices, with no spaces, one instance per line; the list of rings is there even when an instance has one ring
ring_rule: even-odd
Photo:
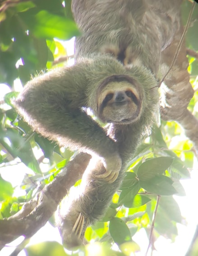
[[[110,56],[82,58],[29,81],[14,105],[33,130],[99,160],[83,175],[78,193],[61,203],[57,224],[67,247],[83,241],[101,219],[123,179],[126,163],[151,127],[158,102],[146,68],[124,68]],[[106,131],[84,111],[111,123]]]

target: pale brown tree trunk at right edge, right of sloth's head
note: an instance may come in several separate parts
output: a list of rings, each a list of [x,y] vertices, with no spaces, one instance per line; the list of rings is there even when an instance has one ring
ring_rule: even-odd
[[[172,62],[175,50],[182,34],[180,32],[175,36],[175,40],[163,52],[163,68],[166,69]],[[196,151],[198,152],[198,120],[188,111],[190,99],[193,97],[194,91],[189,82],[188,59],[186,57],[185,42],[181,45],[180,53],[162,84],[161,97],[161,118],[164,120],[175,120],[183,126],[185,134],[193,141]],[[196,153],[197,153],[196,152]]]

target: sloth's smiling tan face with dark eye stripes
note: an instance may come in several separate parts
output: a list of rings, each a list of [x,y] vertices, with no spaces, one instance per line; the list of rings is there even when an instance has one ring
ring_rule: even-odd
[[[142,111],[141,96],[129,82],[108,83],[98,97],[97,106],[99,118],[107,123],[132,123]]]

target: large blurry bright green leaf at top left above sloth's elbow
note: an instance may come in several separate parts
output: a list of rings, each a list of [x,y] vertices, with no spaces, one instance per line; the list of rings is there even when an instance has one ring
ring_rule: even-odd
[[[63,39],[67,40],[79,35],[74,21],[64,17],[51,14],[46,10],[32,11],[19,14],[24,24],[38,38],[44,39]]]

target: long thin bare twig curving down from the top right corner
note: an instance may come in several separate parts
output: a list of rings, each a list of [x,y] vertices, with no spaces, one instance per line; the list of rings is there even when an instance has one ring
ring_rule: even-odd
[[[160,81],[158,87],[161,86],[162,82],[164,82],[166,76],[168,75],[168,73],[170,72],[170,70],[171,70],[171,69],[173,68],[173,66],[175,65],[175,62],[176,62],[177,57],[178,57],[178,55],[179,55],[179,53],[180,53],[180,49],[181,49],[182,43],[183,43],[183,41],[184,41],[185,35],[186,35],[186,33],[187,33],[188,29],[189,29],[189,25],[190,25],[190,21],[191,21],[191,18],[192,18],[192,14],[193,14],[193,10],[194,10],[195,4],[196,4],[196,3],[193,2],[192,7],[191,7],[191,9],[190,9],[189,17],[188,17],[188,20],[187,20],[187,23],[186,23],[184,32],[183,32],[183,34],[182,34],[182,36],[181,36],[180,42],[178,43],[177,49],[176,49],[176,51],[175,51],[175,55],[174,55],[173,61],[172,61],[172,63],[170,64],[170,67],[169,67],[168,71],[166,72],[165,76],[161,79],[161,81]]]

